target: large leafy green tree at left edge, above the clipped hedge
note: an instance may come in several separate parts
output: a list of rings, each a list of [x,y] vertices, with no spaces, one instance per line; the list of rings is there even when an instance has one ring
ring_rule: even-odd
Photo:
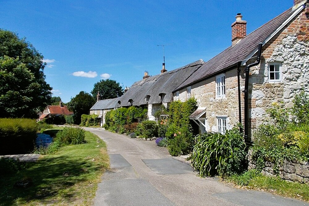
[[[25,38],[0,29],[0,117],[37,118],[50,104],[43,56]]]

